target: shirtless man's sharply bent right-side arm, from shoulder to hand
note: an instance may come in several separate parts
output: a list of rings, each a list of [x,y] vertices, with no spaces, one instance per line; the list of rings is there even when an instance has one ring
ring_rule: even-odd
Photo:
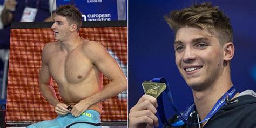
[[[123,71],[120,69],[116,60],[109,55],[101,44],[91,41],[84,44],[83,48],[86,57],[91,60],[92,64],[94,64],[100,72],[110,79],[110,83],[107,84],[102,91],[76,104],[71,110],[73,116],[79,116],[91,105],[116,96],[118,93],[127,89],[127,80]]]

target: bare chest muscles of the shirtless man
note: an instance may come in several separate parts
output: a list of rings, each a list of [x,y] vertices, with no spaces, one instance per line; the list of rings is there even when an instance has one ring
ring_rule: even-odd
[[[57,83],[78,83],[93,69],[91,61],[79,51],[67,55],[57,52],[50,57],[49,69]]]

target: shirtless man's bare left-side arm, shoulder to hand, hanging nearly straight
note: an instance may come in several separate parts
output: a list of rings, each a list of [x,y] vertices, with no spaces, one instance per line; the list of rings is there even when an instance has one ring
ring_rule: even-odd
[[[44,50],[42,52],[42,66],[39,71],[39,89],[42,95],[46,100],[48,100],[53,106],[55,106],[55,112],[59,115],[64,116],[65,114],[68,114],[70,111],[66,108],[68,106],[64,103],[60,103],[57,99],[55,90],[51,86],[51,75],[49,72],[48,67],[48,57],[49,57],[49,51],[47,51],[47,47],[49,45],[45,45]]]

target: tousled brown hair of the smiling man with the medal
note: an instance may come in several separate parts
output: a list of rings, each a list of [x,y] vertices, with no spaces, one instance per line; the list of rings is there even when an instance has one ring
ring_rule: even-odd
[[[185,26],[197,27],[216,32],[220,44],[233,42],[233,29],[228,18],[218,6],[212,6],[211,2],[194,4],[189,8],[174,10],[164,16],[165,21],[176,33]]]

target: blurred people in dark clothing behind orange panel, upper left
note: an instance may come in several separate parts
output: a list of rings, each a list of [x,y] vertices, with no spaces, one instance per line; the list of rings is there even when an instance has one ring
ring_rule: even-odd
[[[0,100],[6,98],[12,22],[53,21],[55,0],[0,0]]]

